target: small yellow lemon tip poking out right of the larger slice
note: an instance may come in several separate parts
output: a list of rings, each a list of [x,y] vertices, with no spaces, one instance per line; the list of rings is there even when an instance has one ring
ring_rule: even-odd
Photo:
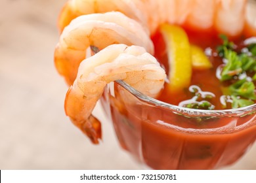
[[[193,69],[210,69],[213,67],[211,64],[211,61],[209,61],[209,58],[205,56],[203,49],[196,46],[196,45],[191,45],[191,56],[192,56],[192,67]]]

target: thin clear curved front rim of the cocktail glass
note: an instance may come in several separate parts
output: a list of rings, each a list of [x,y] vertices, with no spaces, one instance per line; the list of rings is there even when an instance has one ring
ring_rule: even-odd
[[[116,80],[116,83],[119,84],[121,87],[125,88],[128,92],[133,94],[137,99],[140,101],[144,101],[150,105],[154,105],[155,107],[166,108],[169,110],[173,110],[173,112],[177,112],[182,114],[183,116],[188,117],[196,117],[196,116],[213,116],[213,117],[223,117],[223,116],[245,116],[246,114],[251,114],[256,112],[256,103],[253,105],[249,105],[247,107],[240,107],[240,108],[232,108],[232,109],[223,109],[223,110],[203,110],[203,109],[195,109],[195,108],[186,108],[180,107],[177,105],[172,105],[169,103],[165,103],[158,99],[154,99],[143,93],[139,92],[123,80]]]

